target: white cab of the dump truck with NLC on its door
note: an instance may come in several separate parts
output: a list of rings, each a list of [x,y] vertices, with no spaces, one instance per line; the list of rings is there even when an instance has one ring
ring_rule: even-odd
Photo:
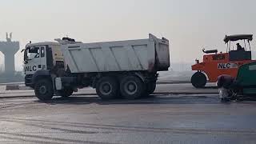
[[[26,86],[31,86],[33,75],[38,70],[53,70],[64,66],[61,45],[58,42],[29,43],[24,50],[24,73]],[[31,86],[33,87],[33,86]]]

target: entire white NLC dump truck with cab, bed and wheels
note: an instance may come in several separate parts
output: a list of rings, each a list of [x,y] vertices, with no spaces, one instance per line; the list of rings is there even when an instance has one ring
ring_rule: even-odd
[[[25,84],[42,101],[88,86],[102,99],[146,97],[155,90],[158,71],[170,67],[169,40],[153,34],[116,42],[55,40],[24,49]]]

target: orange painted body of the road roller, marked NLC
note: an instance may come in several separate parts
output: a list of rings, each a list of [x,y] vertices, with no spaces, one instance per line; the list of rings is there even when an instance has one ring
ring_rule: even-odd
[[[206,54],[203,62],[198,62],[192,66],[192,70],[202,71],[209,78],[209,82],[217,82],[218,76],[228,74],[236,78],[238,67],[255,60],[230,61],[229,53]]]

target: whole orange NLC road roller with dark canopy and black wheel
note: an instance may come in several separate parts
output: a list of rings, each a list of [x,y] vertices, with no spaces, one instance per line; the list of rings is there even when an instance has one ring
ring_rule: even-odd
[[[192,70],[197,70],[191,77],[192,85],[196,88],[204,87],[207,78],[208,82],[217,82],[218,76],[222,74],[228,74],[235,78],[239,66],[255,61],[251,59],[250,41],[252,40],[252,34],[230,35],[224,38],[227,45],[226,53],[203,49],[202,51],[205,53],[203,61],[196,60],[196,64],[192,66]],[[235,43],[234,47],[236,41],[242,41],[243,45]]]

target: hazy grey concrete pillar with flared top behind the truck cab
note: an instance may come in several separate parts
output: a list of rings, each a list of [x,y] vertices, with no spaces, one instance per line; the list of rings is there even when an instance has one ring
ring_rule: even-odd
[[[12,34],[6,33],[6,42],[0,42],[0,51],[5,57],[5,72],[14,73],[15,72],[15,62],[14,55],[19,50],[19,42],[11,41]]]

